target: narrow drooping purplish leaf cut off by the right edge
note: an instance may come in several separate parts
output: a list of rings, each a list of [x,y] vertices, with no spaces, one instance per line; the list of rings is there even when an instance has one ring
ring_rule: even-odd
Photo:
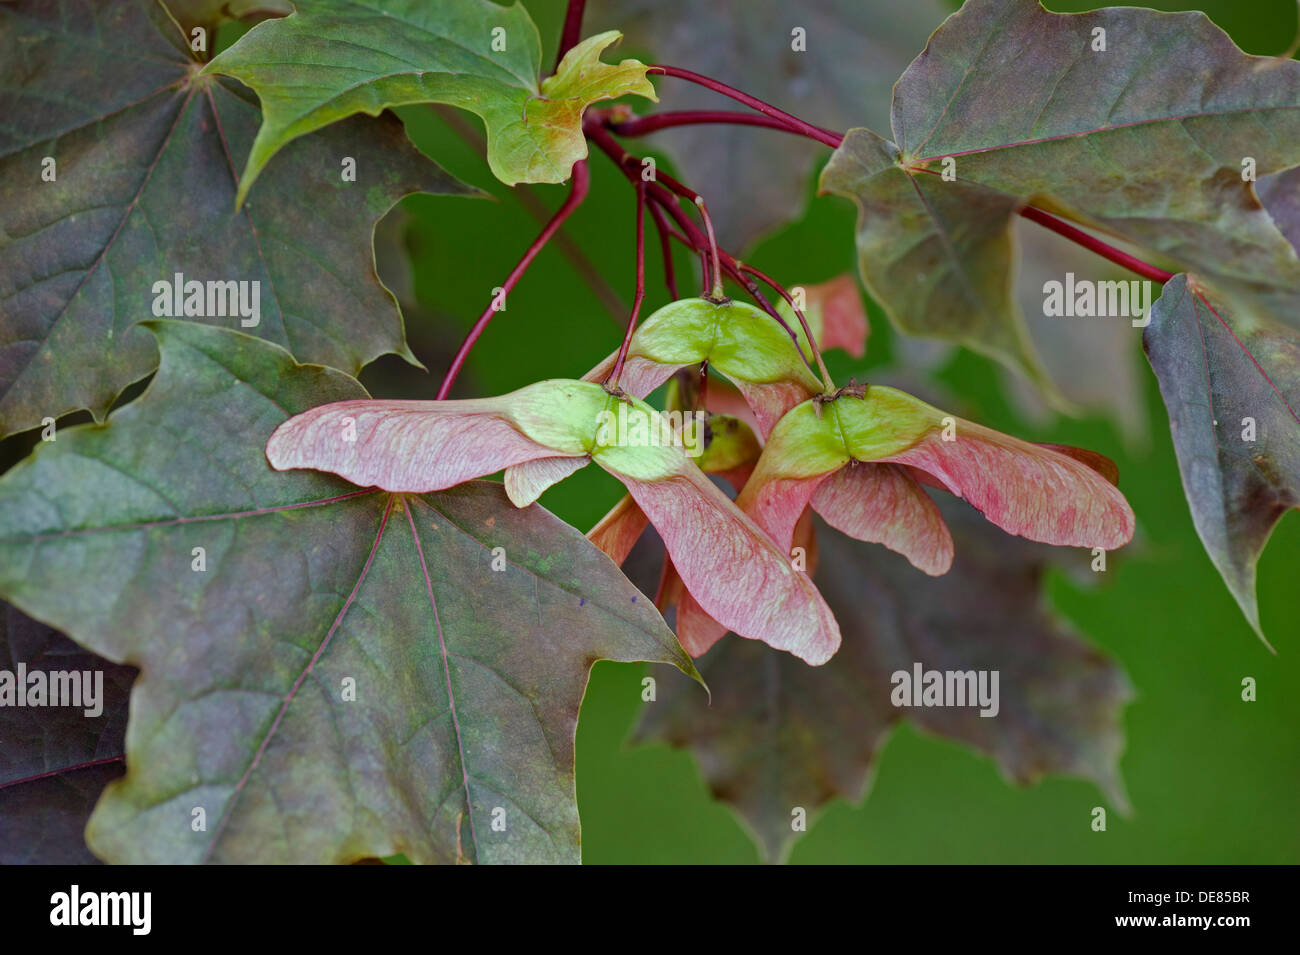
[[[1175,275],[1143,344],[1196,531],[1262,638],[1254,565],[1282,515],[1300,507],[1300,335]]]

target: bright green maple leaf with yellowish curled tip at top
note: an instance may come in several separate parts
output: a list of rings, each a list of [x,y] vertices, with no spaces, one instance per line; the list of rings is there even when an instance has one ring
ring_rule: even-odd
[[[482,117],[488,164],[507,186],[563,182],[586,156],[582,112],[598,100],[654,99],[636,60],[601,62],[616,31],[582,40],[538,81],[542,44],[521,4],[490,0],[300,0],[208,65],[257,91],[265,122],[240,200],[286,143],[354,113],[446,103]]]

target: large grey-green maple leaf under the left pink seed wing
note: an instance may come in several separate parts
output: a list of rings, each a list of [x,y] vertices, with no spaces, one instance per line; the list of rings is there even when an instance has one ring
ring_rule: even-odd
[[[95,854],[577,861],[592,664],[697,676],[653,603],[499,485],[272,470],[277,425],[360,385],[238,331],[150,327],[144,395],[0,479],[0,592],[142,670]]]

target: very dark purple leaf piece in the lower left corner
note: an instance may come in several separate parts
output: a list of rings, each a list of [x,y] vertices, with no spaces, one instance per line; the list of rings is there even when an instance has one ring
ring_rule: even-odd
[[[82,833],[105,783],[122,774],[135,670],[0,604],[0,672],[14,680],[14,698],[0,706],[0,864],[92,863]],[[35,672],[44,674],[39,683]],[[70,687],[65,674],[81,673],[91,682],[78,685],[79,706],[52,706],[51,689]],[[17,700],[20,682],[25,706]],[[26,691],[38,686],[43,706],[32,707]],[[81,698],[83,690],[95,699]]]

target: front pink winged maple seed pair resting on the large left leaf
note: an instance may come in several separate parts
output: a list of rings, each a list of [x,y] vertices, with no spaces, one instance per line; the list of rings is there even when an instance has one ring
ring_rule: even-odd
[[[312,468],[406,492],[532,463],[540,470],[507,470],[517,507],[556,476],[595,461],[628,489],[685,587],[719,625],[814,665],[840,646],[811,578],[696,466],[659,412],[601,385],[552,379],[490,399],[335,401],[277,427],[266,459],[278,470]]]

